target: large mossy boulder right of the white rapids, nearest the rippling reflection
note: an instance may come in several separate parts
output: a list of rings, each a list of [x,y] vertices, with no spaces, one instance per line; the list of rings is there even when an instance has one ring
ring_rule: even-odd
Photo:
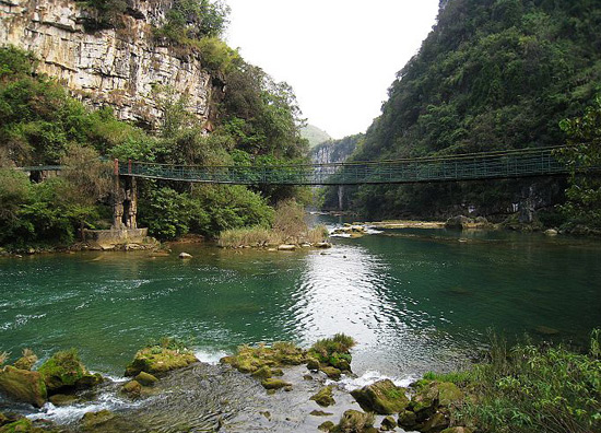
[[[405,393],[405,388],[398,387],[390,379],[384,379],[355,389],[351,395],[363,410],[379,414],[392,414],[402,412],[408,407],[409,399]]]

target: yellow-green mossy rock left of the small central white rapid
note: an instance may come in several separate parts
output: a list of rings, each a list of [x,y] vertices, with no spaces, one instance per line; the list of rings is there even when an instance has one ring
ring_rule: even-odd
[[[141,372],[160,375],[172,370],[184,368],[198,362],[189,350],[176,350],[161,347],[144,348],[126,368],[126,376],[137,376]]]

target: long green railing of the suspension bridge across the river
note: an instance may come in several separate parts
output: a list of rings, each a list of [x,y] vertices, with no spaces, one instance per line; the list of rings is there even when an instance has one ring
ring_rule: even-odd
[[[195,166],[130,162],[119,174],[243,185],[357,185],[511,178],[567,173],[557,148],[376,162],[269,166]]]

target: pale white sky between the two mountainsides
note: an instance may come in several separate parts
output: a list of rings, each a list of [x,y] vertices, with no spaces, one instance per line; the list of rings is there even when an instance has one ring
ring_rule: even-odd
[[[291,84],[308,122],[337,139],[379,116],[438,12],[438,0],[225,1],[229,46]]]

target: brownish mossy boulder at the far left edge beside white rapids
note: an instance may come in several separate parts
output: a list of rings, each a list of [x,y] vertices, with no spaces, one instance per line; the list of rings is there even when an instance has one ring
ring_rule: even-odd
[[[12,365],[0,371],[0,393],[38,408],[44,406],[48,395],[42,374]]]

